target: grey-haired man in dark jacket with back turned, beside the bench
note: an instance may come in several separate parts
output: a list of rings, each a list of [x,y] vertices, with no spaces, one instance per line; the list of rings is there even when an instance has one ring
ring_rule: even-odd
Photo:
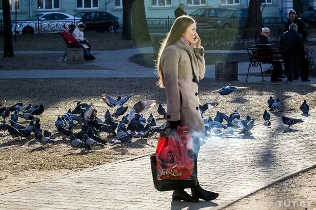
[[[285,72],[288,76],[288,81],[292,81],[290,64],[301,64],[302,81],[310,81],[308,80],[308,61],[305,57],[306,51],[303,38],[297,31],[298,26],[295,23],[292,23],[289,25],[288,31],[285,32],[280,39],[280,45],[288,48],[288,53],[284,63]]]

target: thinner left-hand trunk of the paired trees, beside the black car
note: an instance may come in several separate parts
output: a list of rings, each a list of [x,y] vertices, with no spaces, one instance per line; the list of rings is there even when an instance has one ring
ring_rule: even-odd
[[[123,0],[123,30],[122,38],[123,40],[132,40],[131,36],[131,6],[134,0]]]

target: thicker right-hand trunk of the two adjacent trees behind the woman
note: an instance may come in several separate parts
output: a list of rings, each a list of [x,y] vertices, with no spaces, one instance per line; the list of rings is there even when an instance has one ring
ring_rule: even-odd
[[[146,20],[144,0],[134,0],[131,10],[134,42],[150,42],[151,38]]]

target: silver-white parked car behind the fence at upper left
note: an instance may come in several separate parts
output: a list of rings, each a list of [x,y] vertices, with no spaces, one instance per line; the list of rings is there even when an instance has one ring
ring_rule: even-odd
[[[64,29],[64,25],[73,24],[73,21],[77,23],[81,19],[63,12],[42,12],[33,15],[28,20],[17,21],[16,31],[15,22],[12,21],[12,32],[34,34],[34,32],[38,31],[38,26],[41,33],[61,32]]]

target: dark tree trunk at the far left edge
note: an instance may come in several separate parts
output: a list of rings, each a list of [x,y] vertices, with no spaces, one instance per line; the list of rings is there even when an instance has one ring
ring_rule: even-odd
[[[12,45],[12,25],[9,0],[2,0],[3,22],[4,22],[4,57],[14,57]]]

